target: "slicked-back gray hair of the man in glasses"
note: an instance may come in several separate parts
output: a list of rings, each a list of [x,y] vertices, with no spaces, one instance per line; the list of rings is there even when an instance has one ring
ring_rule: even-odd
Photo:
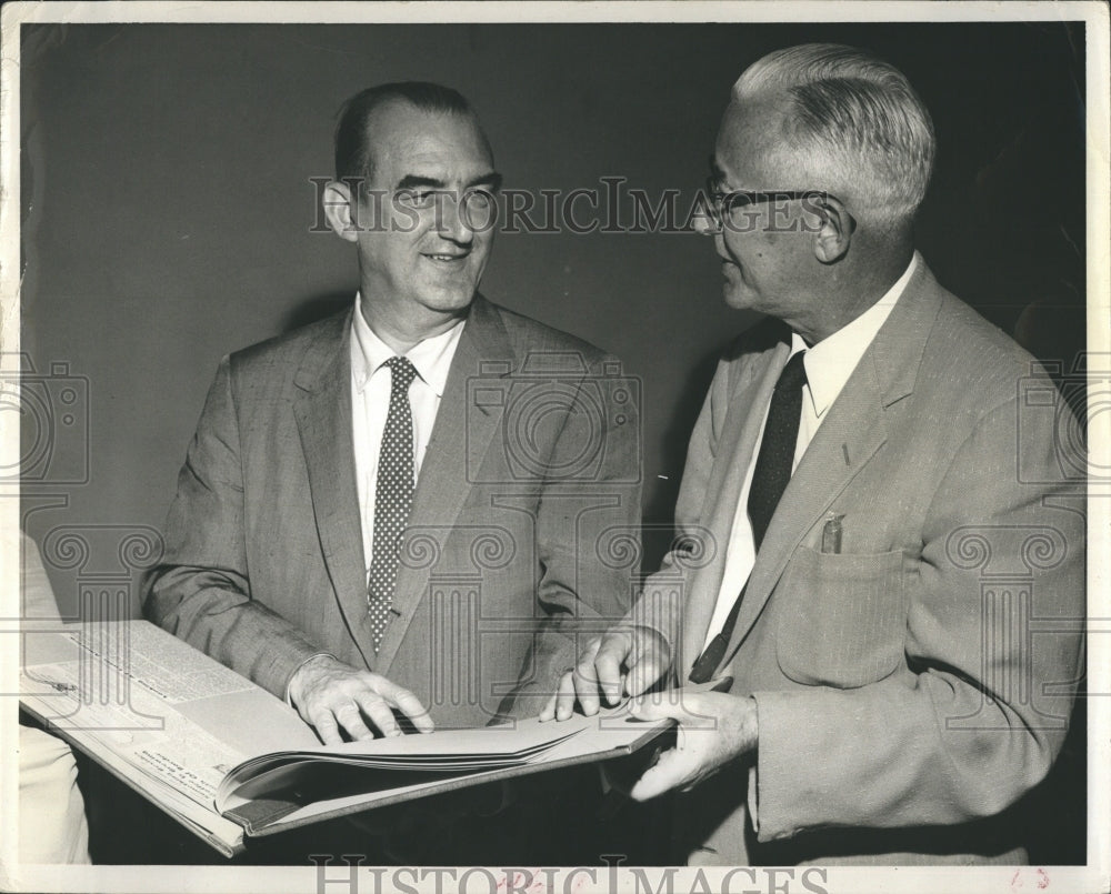
[[[785,94],[787,139],[849,188],[865,218],[904,219],[925,197],[933,122],[905,76],[861,50],[805,43],[769,53],[733,84],[737,100]],[[807,184],[809,188],[809,184]]]

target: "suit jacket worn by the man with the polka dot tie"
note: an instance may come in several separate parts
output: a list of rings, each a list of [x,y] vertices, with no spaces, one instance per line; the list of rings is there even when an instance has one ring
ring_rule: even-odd
[[[376,654],[350,332],[348,311],[220,364],[144,611],[279,697],[327,651],[441,727],[537,713],[575,636],[628,609],[629,561],[598,544],[639,530],[639,393],[613,358],[477,297]]]

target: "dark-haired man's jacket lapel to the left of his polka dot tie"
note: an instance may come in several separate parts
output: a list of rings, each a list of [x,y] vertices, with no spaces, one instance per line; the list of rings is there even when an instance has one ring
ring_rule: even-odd
[[[342,320],[342,323],[340,323]],[[373,667],[373,635],[367,613],[367,575],[362,553],[359,491],[351,446],[351,313],[342,325],[307,352],[297,378],[301,393],[293,415],[309,472],[317,533],[336,597],[351,639],[368,667]]]

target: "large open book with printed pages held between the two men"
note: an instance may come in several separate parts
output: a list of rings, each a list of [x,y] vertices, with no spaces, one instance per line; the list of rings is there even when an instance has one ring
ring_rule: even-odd
[[[619,707],[327,747],[283,702],[146,621],[24,640],[22,706],[228,856],[244,834],[630,754],[672,725]]]

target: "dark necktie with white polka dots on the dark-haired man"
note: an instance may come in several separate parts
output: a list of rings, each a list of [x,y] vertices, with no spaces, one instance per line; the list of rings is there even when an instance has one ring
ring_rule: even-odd
[[[413,414],[409,385],[417,369],[403,356],[386,361],[390,370],[390,412],[378,454],[378,485],[374,489],[374,541],[370,561],[367,604],[378,652],[390,623],[393,587],[398,581],[401,533],[413,502]]]

